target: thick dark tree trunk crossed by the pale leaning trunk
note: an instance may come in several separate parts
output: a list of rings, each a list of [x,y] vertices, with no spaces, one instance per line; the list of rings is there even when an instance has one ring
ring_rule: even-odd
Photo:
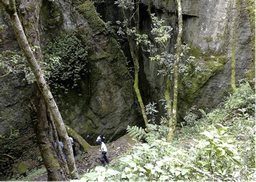
[[[26,35],[26,38],[28,39],[29,45],[37,46],[38,48],[35,50],[35,57],[38,62],[43,61],[41,48],[40,48],[40,42],[39,42],[39,29],[38,29],[38,20],[39,20],[39,12],[42,5],[42,0],[36,0],[36,1],[30,1],[29,3],[25,0],[19,0],[19,18],[21,19],[23,30]],[[33,8],[28,8],[28,6]],[[37,143],[39,150],[41,152],[41,156],[45,165],[45,168],[48,172],[48,180],[68,180],[68,176],[66,174],[69,174],[69,170],[67,170],[68,167],[64,166],[64,171],[62,170],[61,166],[57,164],[58,157],[50,160],[49,156],[57,156],[55,148],[51,148],[50,145],[54,144],[56,139],[52,138],[52,130],[51,127],[49,127],[49,113],[44,113],[47,110],[47,107],[45,105],[43,95],[41,91],[39,90],[37,84],[34,85],[35,87],[35,95],[36,100],[39,104],[36,104],[36,111],[37,111],[37,122],[35,127],[35,133],[37,136]],[[42,108],[42,109],[41,109]],[[49,116],[49,117],[47,117]],[[46,131],[48,129],[48,131]],[[45,138],[50,135],[49,139],[45,140]],[[51,139],[51,140],[50,140]],[[45,143],[42,144],[42,142],[45,140]],[[45,146],[47,145],[48,146]],[[45,148],[48,148],[47,150],[44,150]],[[55,155],[53,155],[55,153]],[[62,154],[62,152],[60,152]],[[63,158],[64,160],[64,158]],[[65,164],[64,164],[65,165]],[[53,167],[53,168],[52,168]],[[59,174],[57,174],[59,172]],[[64,175],[65,174],[65,175]]]

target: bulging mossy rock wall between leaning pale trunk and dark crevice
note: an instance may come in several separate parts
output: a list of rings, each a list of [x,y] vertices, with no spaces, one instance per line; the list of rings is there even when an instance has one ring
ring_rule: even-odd
[[[64,121],[90,144],[95,144],[98,135],[105,135],[107,141],[117,139],[125,134],[128,124],[142,121],[124,53],[99,18],[93,2],[78,2],[72,9],[59,7],[65,12],[64,17],[75,9],[72,13],[77,18],[71,18],[70,24],[78,25],[76,30],[91,47],[87,75],[67,95],[59,93]],[[65,23],[63,26],[63,30],[69,30]]]

